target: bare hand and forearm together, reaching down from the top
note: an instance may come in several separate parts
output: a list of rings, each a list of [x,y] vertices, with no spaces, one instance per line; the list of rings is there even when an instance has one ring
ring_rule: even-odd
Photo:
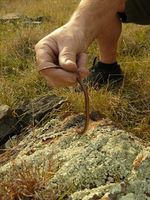
[[[86,50],[105,26],[106,18],[116,15],[122,0],[82,0],[64,26],[35,46],[38,70],[55,87],[72,86],[89,75]]]

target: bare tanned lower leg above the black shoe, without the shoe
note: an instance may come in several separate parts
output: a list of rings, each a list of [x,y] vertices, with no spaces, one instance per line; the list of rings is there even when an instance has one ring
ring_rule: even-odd
[[[101,33],[97,38],[100,50],[99,59],[103,63],[111,64],[116,62],[117,43],[121,34],[122,24],[117,12],[123,12],[125,3],[122,3],[116,11],[116,16],[109,16],[105,19]]]

